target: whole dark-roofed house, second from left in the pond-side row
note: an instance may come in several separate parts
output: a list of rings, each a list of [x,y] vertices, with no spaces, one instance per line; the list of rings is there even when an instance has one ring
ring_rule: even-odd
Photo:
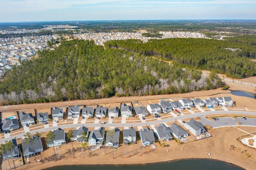
[[[32,157],[34,155],[37,155],[38,152],[44,151],[41,138],[37,139],[35,136],[32,136],[32,138],[34,139],[34,142],[32,142],[32,145],[31,143],[27,143],[27,144],[25,143],[26,138],[22,139],[21,146],[22,146],[24,158]]]

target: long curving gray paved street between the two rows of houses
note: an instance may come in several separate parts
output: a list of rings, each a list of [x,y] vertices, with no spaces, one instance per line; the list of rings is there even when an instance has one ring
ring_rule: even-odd
[[[58,128],[74,128],[74,127],[81,127],[81,126],[86,126],[86,127],[138,127],[138,126],[150,126],[150,125],[157,125],[160,123],[166,123],[166,122],[172,122],[172,121],[178,121],[180,119],[187,119],[187,118],[192,118],[192,117],[203,117],[204,115],[217,115],[217,114],[246,114],[246,115],[255,115],[256,112],[249,112],[249,111],[208,111],[208,112],[203,112],[203,113],[193,113],[189,115],[182,115],[179,117],[172,117],[168,119],[161,119],[161,120],[156,120],[156,121],[150,121],[150,122],[141,122],[141,123],[107,123],[107,124],[99,124],[99,123],[85,123],[85,124],[70,124],[70,125],[58,125]],[[249,119],[249,118],[248,118]],[[236,121],[237,122],[237,121]],[[253,125],[252,125],[253,126]],[[57,127],[48,127],[48,128],[42,128],[38,130],[30,130],[31,134],[35,134],[36,131],[38,132],[47,132],[49,130],[55,130]],[[15,136],[9,137],[9,138],[4,138],[0,140],[0,143],[3,143],[6,140],[11,140],[12,138],[21,138],[23,137],[24,134],[17,134]]]

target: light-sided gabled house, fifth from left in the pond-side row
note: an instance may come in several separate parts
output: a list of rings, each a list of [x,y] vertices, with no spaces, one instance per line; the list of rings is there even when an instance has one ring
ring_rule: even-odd
[[[89,145],[90,146],[102,146],[104,141],[104,136],[102,136],[103,127],[100,127],[98,130],[92,130],[89,136]]]

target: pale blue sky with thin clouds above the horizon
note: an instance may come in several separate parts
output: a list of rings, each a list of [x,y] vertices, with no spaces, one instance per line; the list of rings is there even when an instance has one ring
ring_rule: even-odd
[[[0,22],[256,20],[256,0],[0,0]]]

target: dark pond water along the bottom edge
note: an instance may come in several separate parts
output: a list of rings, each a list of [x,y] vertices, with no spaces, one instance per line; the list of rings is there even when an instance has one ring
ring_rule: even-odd
[[[241,167],[213,159],[182,159],[170,162],[136,165],[73,165],[56,166],[46,170],[244,170]]]

